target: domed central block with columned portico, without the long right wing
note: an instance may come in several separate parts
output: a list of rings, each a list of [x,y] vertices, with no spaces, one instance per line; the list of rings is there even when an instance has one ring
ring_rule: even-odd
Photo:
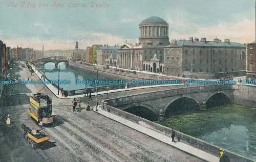
[[[139,24],[139,43],[124,43],[118,50],[120,68],[163,72],[164,47],[169,45],[169,25],[161,17],[151,16]]]

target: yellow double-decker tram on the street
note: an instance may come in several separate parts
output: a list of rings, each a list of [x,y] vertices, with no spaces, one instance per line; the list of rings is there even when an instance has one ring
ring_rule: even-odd
[[[52,98],[43,93],[37,93],[29,98],[29,116],[39,125],[53,123]]]

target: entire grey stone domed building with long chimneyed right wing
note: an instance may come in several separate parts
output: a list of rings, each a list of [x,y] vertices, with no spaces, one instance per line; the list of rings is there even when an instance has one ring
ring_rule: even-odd
[[[117,50],[117,66],[172,76],[245,76],[246,46],[215,38],[169,41],[169,24],[152,16],[139,24],[139,42]]]

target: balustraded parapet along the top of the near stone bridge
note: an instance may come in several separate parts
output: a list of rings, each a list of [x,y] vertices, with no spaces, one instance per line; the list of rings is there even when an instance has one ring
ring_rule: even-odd
[[[200,92],[212,92],[212,91],[223,91],[223,90],[232,90],[234,89],[232,85],[205,85],[204,87],[186,87],[186,88],[177,88],[171,90],[163,90],[150,93],[141,93],[132,96],[125,96],[120,98],[108,99],[108,103],[111,106],[120,106],[129,104],[131,102],[142,102],[147,100],[154,100],[159,98],[166,98],[182,94],[191,94],[191,93],[200,93]]]

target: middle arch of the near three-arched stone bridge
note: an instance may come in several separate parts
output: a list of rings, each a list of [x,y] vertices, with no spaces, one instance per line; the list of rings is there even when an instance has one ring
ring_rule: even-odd
[[[199,101],[189,95],[172,97],[164,107],[164,116],[178,114],[184,111],[200,110]]]

